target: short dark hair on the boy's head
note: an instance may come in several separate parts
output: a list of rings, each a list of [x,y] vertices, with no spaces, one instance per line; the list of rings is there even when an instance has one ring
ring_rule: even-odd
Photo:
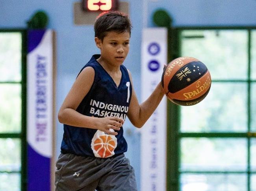
[[[101,13],[94,24],[95,37],[102,41],[109,31],[128,32],[131,35],[131,29],[132,24],[128,16],[118,11]]]

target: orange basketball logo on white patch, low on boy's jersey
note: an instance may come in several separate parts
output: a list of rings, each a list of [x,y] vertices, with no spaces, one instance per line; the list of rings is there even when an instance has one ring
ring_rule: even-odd
[[[91,142],[91,149],[96,157],[107,158],[115,155],[117,138],[114,135],[106,135],[103,131],[96,131]]]

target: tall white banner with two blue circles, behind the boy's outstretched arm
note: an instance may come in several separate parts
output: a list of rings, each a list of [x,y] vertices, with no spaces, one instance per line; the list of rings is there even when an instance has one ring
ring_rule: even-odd
[[[143,29],[141,48],[141,92],[145,101],[161,81],[164,64],[167,64],[167,29]],[[141,191],[166,190],[166,117],[164,96],[141,129]]]

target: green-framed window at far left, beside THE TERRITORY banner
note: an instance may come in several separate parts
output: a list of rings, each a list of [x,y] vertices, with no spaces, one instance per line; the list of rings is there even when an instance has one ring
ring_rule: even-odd
[[[25,31],[0,30],[0,190],[26,189]]]

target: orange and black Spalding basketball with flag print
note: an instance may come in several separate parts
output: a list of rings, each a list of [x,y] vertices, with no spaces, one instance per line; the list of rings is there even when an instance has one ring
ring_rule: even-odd
[[[174,104],[193,106],[209,93],[211,75],[206,65],[196,58],[179,57],[164,69],[161,85]]]

